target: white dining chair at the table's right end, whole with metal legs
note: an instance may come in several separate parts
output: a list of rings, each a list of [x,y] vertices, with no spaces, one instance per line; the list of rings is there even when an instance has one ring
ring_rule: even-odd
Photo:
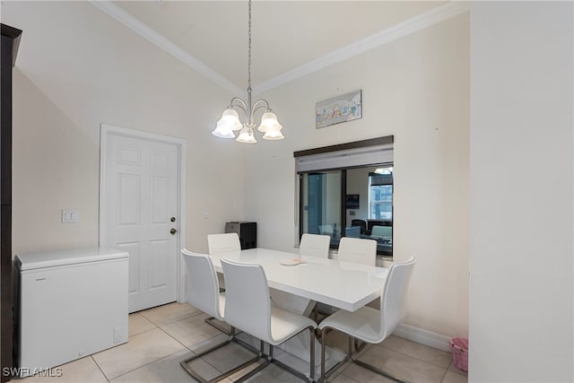
[[[393,334],[396,326],[404,318],[404,302],[415,259],[411,257],[403,263],[391,265],[387,280],[380,296],[380,309],[363,306],[356,311],[339,310],[319,324],[321,330],[321,376],[319,381],[326,381],[325,344],[328,329],[335,329],[349,335],[349,354],[344,361],[351,359],[356,364],[398,382],[404,380],[392,374],[352,358],[353,339],[369,344],[378,344]],[[344,362],[343,361],[343,362]],[[337,365],[338,366],[338,365]],[[336,366],[335,366],[336,367]],[[335,370],[332,369],[332,370]]]

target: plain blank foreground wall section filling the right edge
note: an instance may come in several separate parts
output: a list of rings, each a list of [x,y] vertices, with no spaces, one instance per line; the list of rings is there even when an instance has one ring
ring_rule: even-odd
[[[469,381],[574,381],[573,11],[471,7]]]

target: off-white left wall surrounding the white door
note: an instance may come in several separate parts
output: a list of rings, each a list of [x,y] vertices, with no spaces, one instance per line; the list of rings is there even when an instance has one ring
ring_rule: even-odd
[[[187,140],[187,248],[243,218],[243,149],[210,135],[231,95],[87,2],[3,2],[13,83],[13,252],[97,246],[100,123]],[[65,208],[80,222],[60,223]],[[208,210],[204,220],[202,213]]]

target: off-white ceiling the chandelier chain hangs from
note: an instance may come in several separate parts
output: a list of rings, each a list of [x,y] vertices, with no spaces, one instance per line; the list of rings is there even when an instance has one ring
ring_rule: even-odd
[[[271,89],[310,73],[317,66],[334,64],[342,54],[352,56],[354,51],[361,50],[360,44],[376,40],[377,36],[381,39],[386,31],[400,29],[425,15],[431,17],[447,3],[254,1],[251,54],[254,91],[257,87],[260,91]],[[247,1],[92,4],[230,91],[247,88]]]

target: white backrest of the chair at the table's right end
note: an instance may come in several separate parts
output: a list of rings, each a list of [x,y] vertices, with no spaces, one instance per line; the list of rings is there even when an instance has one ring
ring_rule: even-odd
[[[387,281],[380,297],[381,340],[391,335],[404,318],[406,291],[415,262],[411,257],[408,261],[393,264],[388,269]]]

